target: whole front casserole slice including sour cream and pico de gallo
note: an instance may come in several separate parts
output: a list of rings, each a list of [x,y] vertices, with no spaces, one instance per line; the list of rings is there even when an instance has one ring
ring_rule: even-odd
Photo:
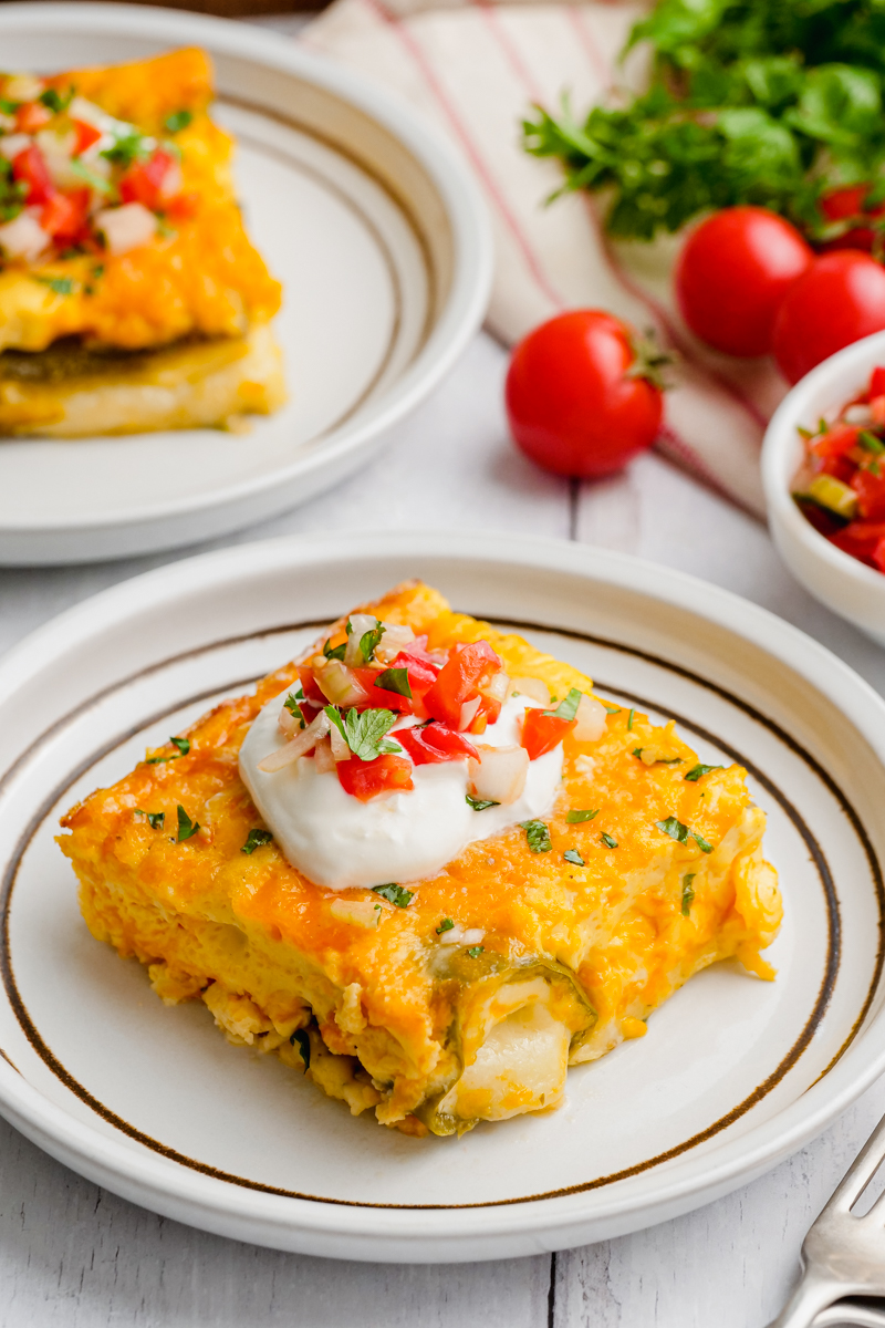
[[[421,583],[62,821],[92,932],[357,1114],[549,1110],[693,973],[774,977],[739,766]],[[634,1054],[641,1054],[637,1048]]]

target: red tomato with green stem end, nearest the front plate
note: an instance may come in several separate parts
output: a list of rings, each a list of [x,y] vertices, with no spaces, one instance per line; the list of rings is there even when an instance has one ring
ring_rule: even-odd
[[[654,442],[663,397],[630,328],[602,309],[560,313],[513,351],[504,401],[521,450],[557,475],[620,470]]]

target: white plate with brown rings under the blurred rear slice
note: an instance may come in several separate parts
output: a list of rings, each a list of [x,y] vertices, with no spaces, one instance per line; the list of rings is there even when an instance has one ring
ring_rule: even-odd
[[[452,365],[491,282],[484,206],[433,126],[383,88],[241,23],[122,4],[3,4],[4,69],[210,52],[249,234],[284,286],[291,400],[247,434],[0,440],[0,563],[195,543],[368,461]]]

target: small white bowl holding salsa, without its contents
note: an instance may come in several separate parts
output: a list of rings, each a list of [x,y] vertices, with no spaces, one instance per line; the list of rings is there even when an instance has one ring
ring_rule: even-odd
[[[803,459],[799,426],[813,429],[821,414],[851,401],[878,364],[885,365],[885,332],[854,341],[805,374],[771,418],[762,479],[771,534],[793,576],[827,608],[885,645],[885,575],[824,539],[791,497]]]

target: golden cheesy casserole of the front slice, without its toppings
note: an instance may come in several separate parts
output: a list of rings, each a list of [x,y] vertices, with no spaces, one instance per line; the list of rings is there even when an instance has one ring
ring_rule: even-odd
[[[454,614],[421,583],[361,611],[429,633],[430,649],[487,640],[511,677],[540,677],[559,696],[590,691],[571,665]],[[273,842],[245,855],[261,822],[239,746],[295,677],[287,665],[218,706],[187,732],[186,756],[162,749],[167,760],[139,764],[62,821],[90,930],[149,964],[163,999],[202,997],[232,1041],[297,1069],[309,1046],[310,1077],[354,1113],[448,1134],[556,1106],[569,1062],[642,1036],[649,1013],[715,960],[774,976],[760,950],[780,895],[744,772],[686,781],[694,752],[640,713],[610,713],[597,742],[567,737],[549,851],[531,851],[513,826],[410,882],[405,908],[313,884]],[[202,827],[183,843],[179,805]],[[569,825],[569,809],[597,814]],[[669,818],[689,829],[683,841],[655,825]],[[482,928],[482,951],[442,944],[446,918]]]

